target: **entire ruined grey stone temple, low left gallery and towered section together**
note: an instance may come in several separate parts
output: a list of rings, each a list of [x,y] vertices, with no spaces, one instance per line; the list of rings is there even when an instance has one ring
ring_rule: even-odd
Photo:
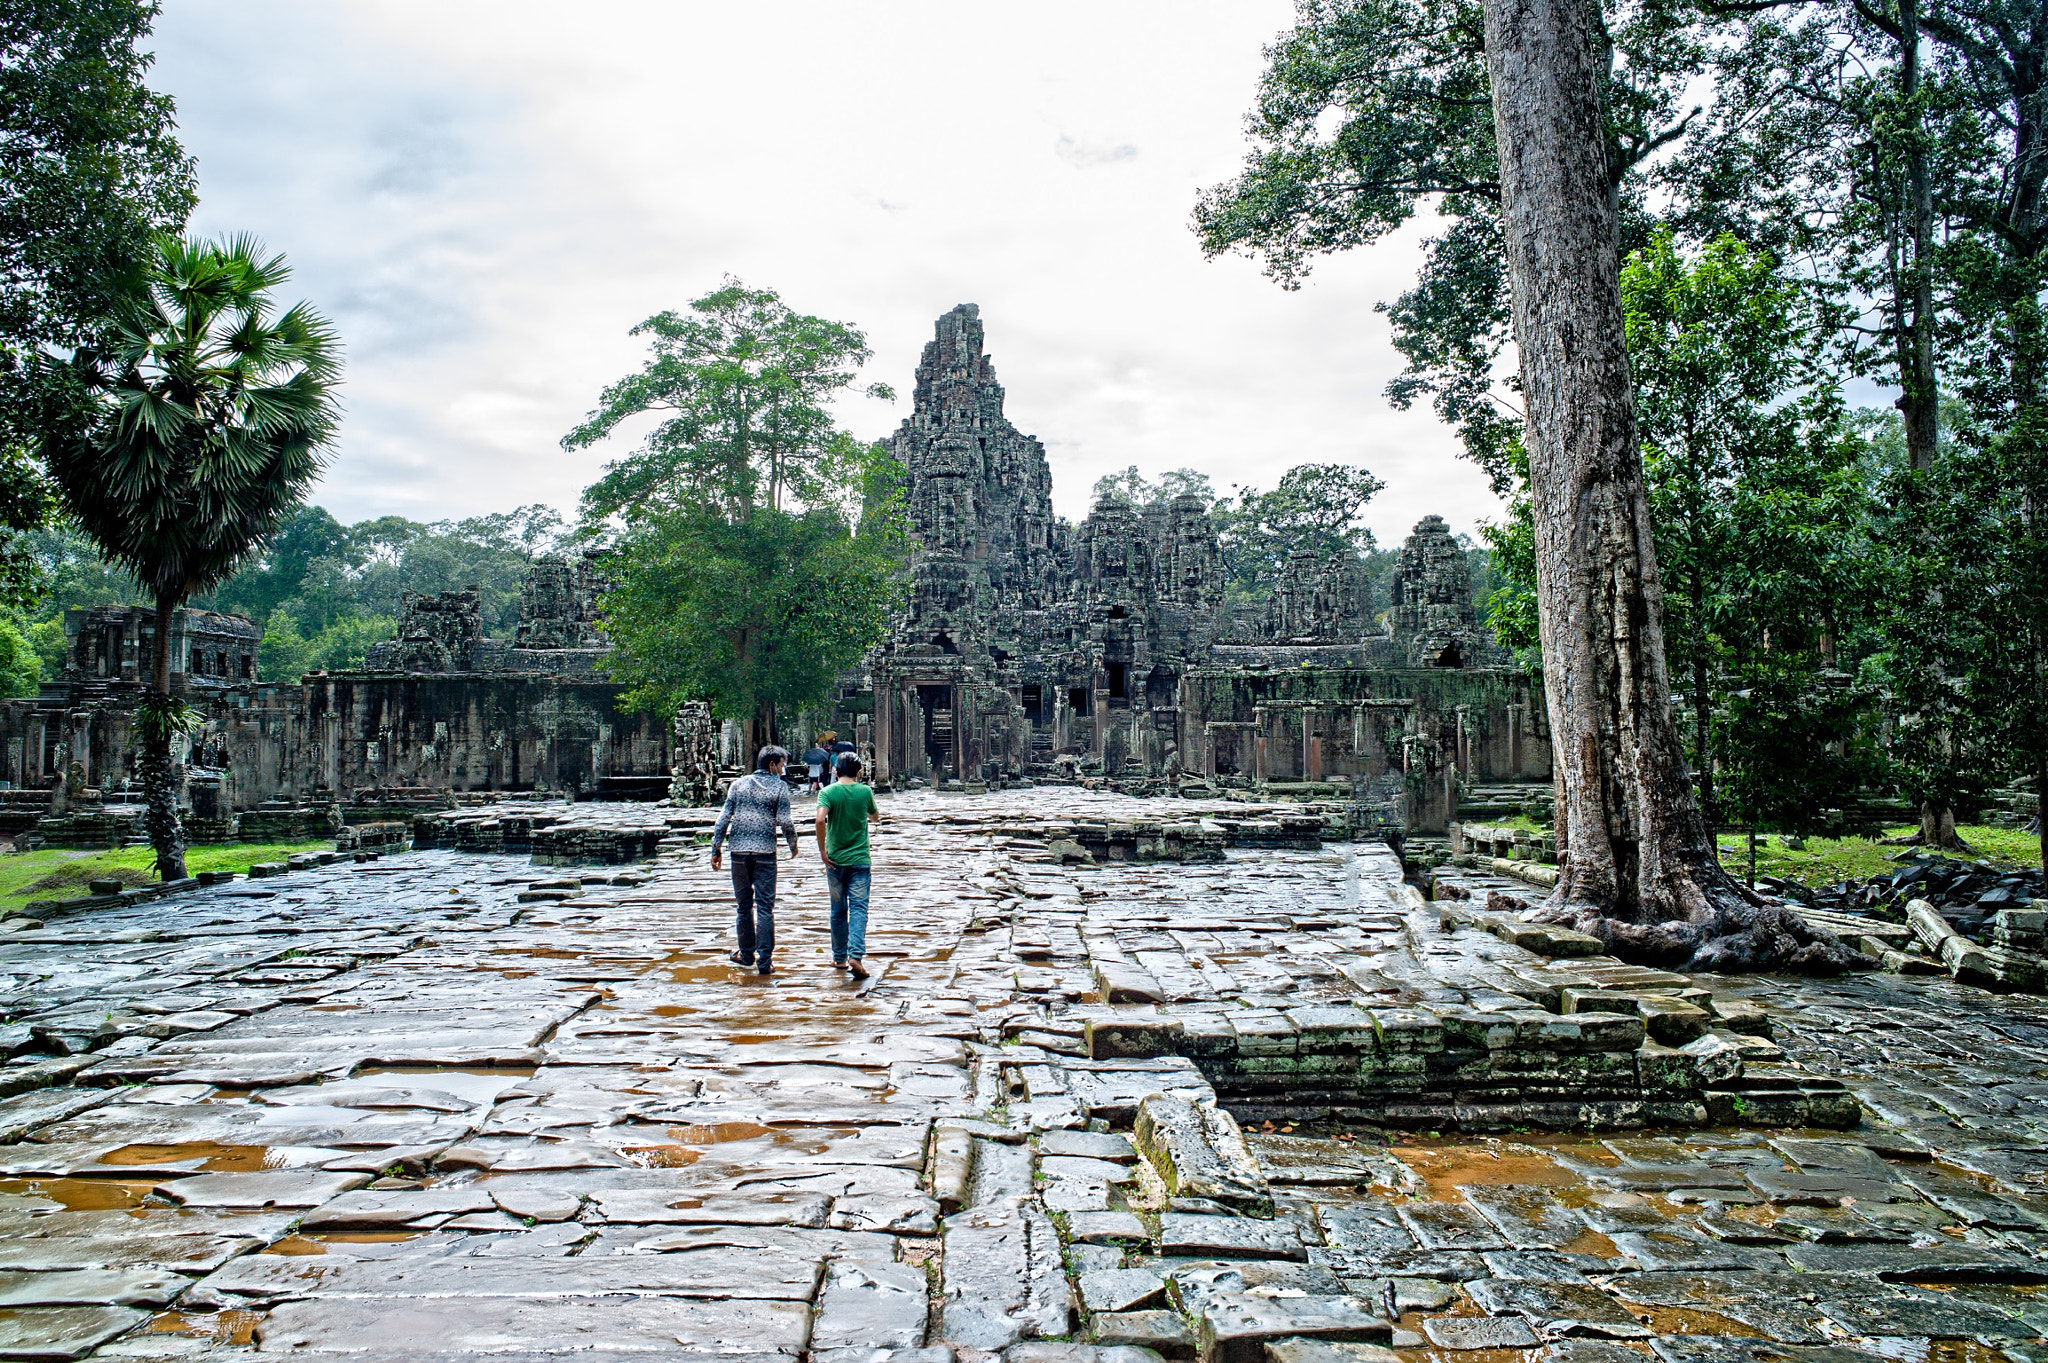
[[[1411,831],[1442,829],[1477,786],[1548,782],[1540,684],[1479,624],[1442,518],[1401,546],[1384,610],[1354,559],[1311,553],[1266,602],[1231,602],[1198,497],[1053,514],[1044,446],[1004,415],[975,305],[938,319],[889,446],[909,604],[797,741],[850,735],[889,784],[1337,794]],[[201,720],[180,751],[193,839],[489,792],[653,798],[672,772],[711,794],[737,737],[700,706],[618,706],[600,591],[592,559],[541,559],[510,641],[485,636],[475,591],[408,593],[365,667],[295,684],[256,682],[254,622],[178,612],[174,688]],[[119,841],[139,831],[125,792],[154,616],[74,610],[66,630],[61,677],[0,702],[0,835]]]

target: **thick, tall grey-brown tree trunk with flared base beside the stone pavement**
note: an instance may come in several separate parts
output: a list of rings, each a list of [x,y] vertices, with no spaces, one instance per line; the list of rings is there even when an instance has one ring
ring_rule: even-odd
[[[1686,770],[1622,340],[1595,14],[1587,0],[1487,0],[1485,29],[1569,839],[1546,909],[1638,960],[1839,970],[1862,958],[1720,870]]]

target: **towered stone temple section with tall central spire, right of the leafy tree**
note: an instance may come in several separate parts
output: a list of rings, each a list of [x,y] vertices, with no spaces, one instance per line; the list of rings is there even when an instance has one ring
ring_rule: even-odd
[[[1462,548],[1425,518],[1384,624],[1360,565],[1296,555],[1264,612],[1225,600],[1198,497],[1053,514],[1044,446],[1004,415],[979,309],[938,319],[889,442],[918,544],[860,712],[879,776],[1339,782],[1442,827],[1458,784],[1548,780],[1542,696],[1479,626]]]

